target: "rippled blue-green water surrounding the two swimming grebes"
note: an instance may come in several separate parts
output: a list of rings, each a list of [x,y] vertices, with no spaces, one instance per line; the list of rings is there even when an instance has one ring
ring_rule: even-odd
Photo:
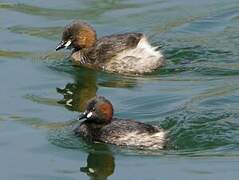
[[[238,0],[1,0],[0,17],[0,179],[238,179]],[[145,32],[165,67],[128,77],[74,66],[54,51],[74,19],[98,36]],[[167,129],[169,149],[74,137],[96,94],[118,117]]]

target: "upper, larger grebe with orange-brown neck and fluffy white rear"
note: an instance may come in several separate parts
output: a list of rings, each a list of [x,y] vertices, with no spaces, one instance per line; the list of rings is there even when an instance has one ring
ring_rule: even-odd
[[[121,74],[150,73],[163,65],[163,55],[142,33],[124,33],[96,38],[86,23],[74,22],[63,32],[56,50],[73,48],[74,62]]]

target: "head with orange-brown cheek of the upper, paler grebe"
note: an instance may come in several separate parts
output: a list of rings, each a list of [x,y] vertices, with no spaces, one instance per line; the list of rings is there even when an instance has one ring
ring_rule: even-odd
[[[62,34],[62,40],[56,47],[56,51],[62,48],[74,48],[81,50],[94,46],[96,42],[96,32],[87,23],[75,21],[67,25]]]

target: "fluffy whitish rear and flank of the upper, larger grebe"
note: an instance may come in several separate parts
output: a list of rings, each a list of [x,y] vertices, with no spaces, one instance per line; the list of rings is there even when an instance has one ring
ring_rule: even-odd
[[[108,71],[142,74],[152,72],[163,64],[163,55],[144,36],[134,49],[124,50],[106,66]]]

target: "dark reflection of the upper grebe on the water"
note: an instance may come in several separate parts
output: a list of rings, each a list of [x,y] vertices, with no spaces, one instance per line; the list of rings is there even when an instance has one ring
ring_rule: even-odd
[[[74,67],[74,83],[67,83],[64,88],[56,88],[63,95],[58,101],[71,111],[82,112],[86,102],[95,97],[98,86],[112,88],[132,88],[136,85],[136,79],[123,78],[106,73],[97,73],[92,69]],[[97,78],[101,79],[97,82]]]

